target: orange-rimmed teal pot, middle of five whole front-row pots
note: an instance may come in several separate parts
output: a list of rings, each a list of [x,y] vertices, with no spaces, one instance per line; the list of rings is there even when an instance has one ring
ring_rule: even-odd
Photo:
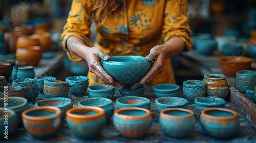
[[[117,131],[127,138],[138,138],[147,133],[152,125],[151,111],[129,107],[115,111],[113,123]]]

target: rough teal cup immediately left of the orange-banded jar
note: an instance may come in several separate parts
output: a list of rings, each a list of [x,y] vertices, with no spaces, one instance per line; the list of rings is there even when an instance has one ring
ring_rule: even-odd
[[[183,94],[188,101],[194,101],[197,97],[205,97],[205,83],[200,80],[184,81]]]

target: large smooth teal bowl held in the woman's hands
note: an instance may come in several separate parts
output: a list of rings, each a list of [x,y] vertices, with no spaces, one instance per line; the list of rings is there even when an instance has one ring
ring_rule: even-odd
[[[152,62],[142,56],[113,56],[103,61],[102,67],[116,82],[126,85],[134,84],[150,70]]]

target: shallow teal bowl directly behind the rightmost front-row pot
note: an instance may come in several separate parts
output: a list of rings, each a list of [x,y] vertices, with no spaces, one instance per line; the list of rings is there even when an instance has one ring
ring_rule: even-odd
[[[201,97],[195,99],[195,106],[198,110],[203,111],[207,108],[221,107],[224,108],[226,101],[218,97]]]

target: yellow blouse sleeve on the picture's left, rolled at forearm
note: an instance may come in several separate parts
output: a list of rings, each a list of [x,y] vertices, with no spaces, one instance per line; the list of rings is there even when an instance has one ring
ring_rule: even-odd
[[[60,40],[63,45],[63,49],[67,51],[67,55],[73,61],[80,61],[81,58],[73,55],[67,48],[67,40],[71,36],[76,36],[83,40],[83,42],[90,46],[91,35],[91,16],[90,16],[90,1],[77,1],[73,0],[67,23],[63,28]]]

